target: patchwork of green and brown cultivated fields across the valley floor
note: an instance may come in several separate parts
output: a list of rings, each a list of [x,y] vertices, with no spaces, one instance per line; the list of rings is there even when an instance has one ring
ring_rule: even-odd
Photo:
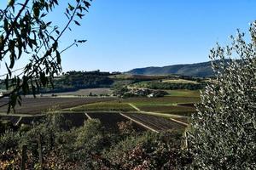
[[[17,125],[32,124],[32,122],[43,120],[45,115],[42,113],[53,108],[53,111],[63,113],[62,115],[67,120],[67,127],[65,127],[67,129],[83,126],[87,118],[99,119],[107,130],[113,132],[118,130],[118,122],[127,122],[130,119],[135,121],[133,125],[137,132],[147,127],[155,131],[183,128],[184,125],[171,118],[188,123],[189,116],[195,112],[194,103],[200,100],[199,92],[191,90],[170,90],[168,92],[169,96],[161,98],[41,97],[34,99],[26,97],[23,98],[21,106],[16,106],[15,115],[6,116],[7,106],[0,108],[0,119],[9,120]],[[0,105],[5,102],[7,99],[2,99]],[[87,117],[85,112],[90,117]]]

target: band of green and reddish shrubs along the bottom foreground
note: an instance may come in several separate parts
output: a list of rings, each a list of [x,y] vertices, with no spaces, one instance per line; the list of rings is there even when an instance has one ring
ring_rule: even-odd
[[[181,133],[136,133],[131,122],[119,122],[112,133],[98,120],[83,127],[62,128],[60,115],[50,114],[30,129],[6,132],[0,140],[0,165],[20,167],[20,148],[28,144],[26,167],[38,167],[41,136],[43,167],[46,169],[133,169],[177,167]]]

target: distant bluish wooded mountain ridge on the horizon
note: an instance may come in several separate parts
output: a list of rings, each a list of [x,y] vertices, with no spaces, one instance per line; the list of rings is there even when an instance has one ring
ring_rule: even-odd
[[[185,65],[168,65],[163,67],[145,67],[137,68],[126,73],[133,75],[170,75],[177,74],[188,77],[212,77],[212,64],[211,61],[185,64]]]

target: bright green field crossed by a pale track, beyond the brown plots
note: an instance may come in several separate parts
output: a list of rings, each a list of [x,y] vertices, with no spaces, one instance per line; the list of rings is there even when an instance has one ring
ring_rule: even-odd
[[[169,95],[161,98],[128,98],[113,101],[97,102],[80,105],[71,108],[71,111],[136,111],[131,105],[140,111],[167,113],[180,116],[190,116],[195,108],[180,104],[194,104],[200,101],[198,91],[170,90]],[[131,105],[130,105],[131,104]]]

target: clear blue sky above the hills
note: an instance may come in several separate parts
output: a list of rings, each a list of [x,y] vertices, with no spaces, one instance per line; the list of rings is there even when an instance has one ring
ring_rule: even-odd
[[[50,17],[62,25],[61,8]],[[87,39],[62,54],[63,71],[128,71],[207,61],[216,42],[256,20],[253,0],[95,0],[90,13],[61,39]],[[63,18],[63,19],[62,19]]]

